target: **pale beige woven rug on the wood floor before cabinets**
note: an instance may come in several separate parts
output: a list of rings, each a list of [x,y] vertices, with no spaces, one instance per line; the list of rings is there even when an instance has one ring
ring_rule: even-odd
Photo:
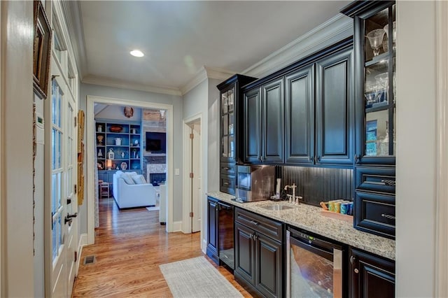
[[[243,297],[205,257],[159,267],[173,297]]]

